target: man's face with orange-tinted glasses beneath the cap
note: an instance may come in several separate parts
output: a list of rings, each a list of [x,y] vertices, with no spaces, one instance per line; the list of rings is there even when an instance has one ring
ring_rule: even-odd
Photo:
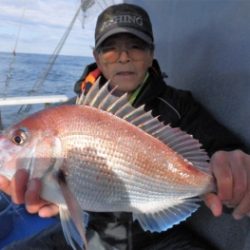
[[[107,38],[94,51],[94,56],[112,87],[118,86],[121,92],[132,92],[152,66],[153,49],[133,35],[118,34]]]

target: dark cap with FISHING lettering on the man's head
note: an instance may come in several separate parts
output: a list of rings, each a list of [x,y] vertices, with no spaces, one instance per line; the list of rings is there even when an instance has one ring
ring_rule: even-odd
[[[98,48],[105,39],[118,33],[129,33],[148,44],[154,43],[149,15],[137,5],[112,5],[100,14],[95,29],[95,47]]]

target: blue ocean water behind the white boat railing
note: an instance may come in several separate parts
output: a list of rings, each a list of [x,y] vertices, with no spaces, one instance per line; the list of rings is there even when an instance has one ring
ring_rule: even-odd
[[[48,68],[49,55],[0,52],[0,97],[27,96],[34,85],[41,81]],[[73,88],[91,57],[58,56],[46,80],[35,88],[33,95],[64,94],[75,96]],[[32,105],[29,112],[18,112],[20,106],[0,106],[2,123],[7,127],[43,105]]]

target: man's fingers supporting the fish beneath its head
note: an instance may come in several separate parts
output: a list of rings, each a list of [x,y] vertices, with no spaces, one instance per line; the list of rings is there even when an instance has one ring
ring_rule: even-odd
[[[0,190],[9,194],[16,204],[25,203],[29,213],[38,213],[41,217],[51,217],[58,213],[58,207],[40,198],[41,181],[31,179],[26,170],[20,169],[11,181],[0,176]]]

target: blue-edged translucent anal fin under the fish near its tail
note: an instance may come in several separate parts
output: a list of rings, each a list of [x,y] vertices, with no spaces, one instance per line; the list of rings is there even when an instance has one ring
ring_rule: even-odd
[[[166,231],[195,212],[199,207],[197,201],[197,198],[191,198],[162,210],[150,213],[133,213],[133,220],[138,220],[144,231]]]

